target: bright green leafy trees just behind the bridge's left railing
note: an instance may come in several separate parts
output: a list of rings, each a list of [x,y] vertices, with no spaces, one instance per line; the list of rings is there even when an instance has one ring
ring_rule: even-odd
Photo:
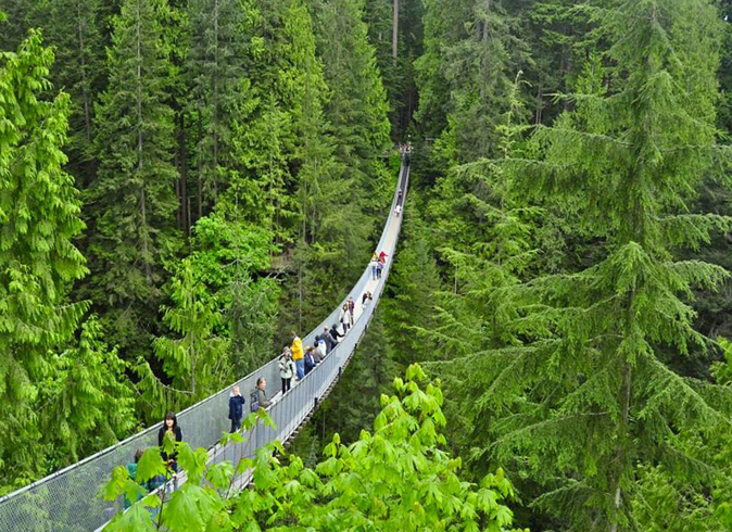
[[[171,404],[181,408],[207,396],[232,375],[244,376],[268,358],[262,345],[272,342],[278,290],[269,279],[249,276],[268,265],[269,239],[267,231],[216,214],[197,223],[193,251],[171,266],[166,291],[172,305],[162,308],[171,333],[154,341],[169,385],[161,384],[147,363],[138,366],[150,419],[163,416]],[[177,398],[157,401],[166,389]]]

